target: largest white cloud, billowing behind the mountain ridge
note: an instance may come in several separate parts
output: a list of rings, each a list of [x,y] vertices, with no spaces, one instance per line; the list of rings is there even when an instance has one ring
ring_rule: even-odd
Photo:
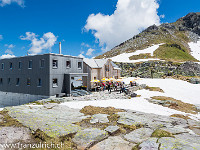
[[[84,27],[105,50],[128,40],[150,25],[160,24],[156,0],[118,0],[112,15],[91,14]]]

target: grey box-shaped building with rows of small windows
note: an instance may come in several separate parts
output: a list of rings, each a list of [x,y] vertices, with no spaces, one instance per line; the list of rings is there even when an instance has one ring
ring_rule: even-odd
[[[83,59],[43,54],[0,60],[0,91],[54,96],[71,93],[74,77],[84,78]]]

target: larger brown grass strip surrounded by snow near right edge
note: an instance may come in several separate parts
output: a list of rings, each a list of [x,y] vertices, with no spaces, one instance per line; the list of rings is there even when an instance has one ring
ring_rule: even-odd
[[[165,97],[165,96],[154,96],[154,97],[151,97],[152,99],[155,99],[155,100],[160,100],[160,101],[172,101],[172,102],[175,102],[175,103],[171,103],[171,105],[169,106],[169,108],[171,109],[175,109],[175,110],[178,110],[178,111],[182,111],[182,112],[185,112],[185,113],[191,113],[191,114],[197,114],[198,111],[195,107],[195,105],[193,104],[189,104],[189,103],[184,103],[180,100],[176,100],[174,98],[171,98],[171,97]]]

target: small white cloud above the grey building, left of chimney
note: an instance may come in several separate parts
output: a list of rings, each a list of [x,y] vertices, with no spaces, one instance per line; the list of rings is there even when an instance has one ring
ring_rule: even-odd
[[[33,55],[42,53],[43,50],[51,51],[57,41],[57,37],[51,32],[45,33],[40,39],[37,37],[38,35],[32,32],[26,32],[26,36],[20,36],[21,40],[31,41],[29,53]]]

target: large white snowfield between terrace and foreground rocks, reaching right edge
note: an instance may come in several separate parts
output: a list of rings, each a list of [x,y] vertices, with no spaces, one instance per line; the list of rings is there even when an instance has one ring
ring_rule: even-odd
[[[134,78],[125,79],[126,83]],[[174,79],[140,79],[137,80],[140,84],[147,84],[149,86],[160,87],[165,93],[139,90],[136,93],[141,95],[141,97],[136,97],[132,99],[110,99],[110,100],[95,100],[95,101],[76,101],[76,102],[65,102],[61,105],[68,106],[70,108],[82,109],[85,106],[99,106],[99,107],[115,107],[119,109],[130,109],[145,113],[154,113],[158,115],[170,116],[172,114],[183,114],[174,109],[163,107],[161,105],[152,104],[146,98],[153,96],[167,96],[172,97],[177,100],[182,100],[183,102],[200,104],[200,85],[193,85],[185,81],[174,80]],[[200,114],[193,115],[189,114],[193,119],[200,119]]]

